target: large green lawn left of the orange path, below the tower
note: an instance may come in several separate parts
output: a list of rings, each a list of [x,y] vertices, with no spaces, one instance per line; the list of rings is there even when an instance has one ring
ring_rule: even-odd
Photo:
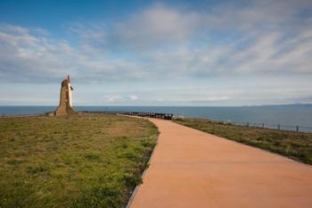
[[[116,115],[0,118],[0,207],[124,207],[157,136]]]

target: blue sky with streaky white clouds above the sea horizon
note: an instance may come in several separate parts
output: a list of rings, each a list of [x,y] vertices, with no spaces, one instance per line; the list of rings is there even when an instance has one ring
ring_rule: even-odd
[[[312,1],[0,0],[0,105],[312,103]]]

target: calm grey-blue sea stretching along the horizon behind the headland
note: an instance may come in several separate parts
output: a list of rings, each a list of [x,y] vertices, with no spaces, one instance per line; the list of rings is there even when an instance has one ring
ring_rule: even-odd
[[[56,106],[0,106],[0,115],[41,114]],[[76,111],[165,112],[177,117],[202,118],[271,129],[312,132],[312,104],[257,106],[75,106]]]

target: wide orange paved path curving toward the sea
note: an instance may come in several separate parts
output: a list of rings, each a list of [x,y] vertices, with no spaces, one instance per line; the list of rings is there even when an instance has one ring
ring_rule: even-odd
[[[312,166],[150,119],[158,146],[131,208],[312,207]]]

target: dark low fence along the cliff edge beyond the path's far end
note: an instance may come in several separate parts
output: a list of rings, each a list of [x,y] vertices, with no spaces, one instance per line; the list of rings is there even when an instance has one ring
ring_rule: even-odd
[[[83,111],[88,112],[88,111]],[[160,113],[160,112],[125,112],[125,111],[92,111],[88,113],[105,113],[105,114],[121,114],[121,115],[135,115],[140,117],[158,118],[164,120],[171,120],[172,113]]]

